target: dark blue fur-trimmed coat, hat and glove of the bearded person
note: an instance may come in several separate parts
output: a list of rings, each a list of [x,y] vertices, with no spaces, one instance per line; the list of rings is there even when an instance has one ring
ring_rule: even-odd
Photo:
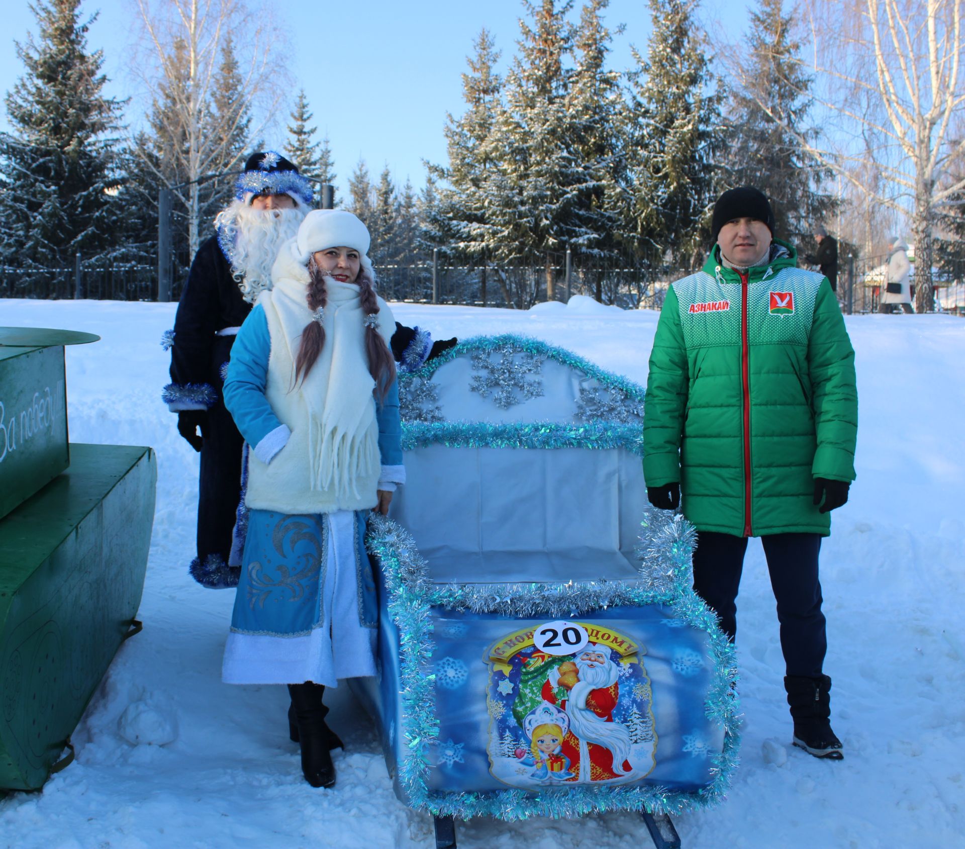
[[[289,195],[302,214],[313,201],[311,182],[274,151],[254,153],[235,184],[235,202],[251,205],[264,194]],[[174,331],[166,333],[162,342],[171,348],[171,383],[164,387],[163,400],[178,413],[182,433],[202,429],[197,555],[190,572],[199,583],[214,589],[236,586],[243,544],[243,533],[233,531],[236,524],[243,531],[238,507],[244,440],[225,409],[224,370],[238,329],[262,288],[270,287],[268,280],[246,279],[245,268],[235,264],[239,233],[234,219],[223,214],[218,225],[191,263]],[[430,356],[455,344],[455,340],[432,342],[428,332],[418,327],[397,324],[396,331],[393,354],[403,370],[418,369]]]

